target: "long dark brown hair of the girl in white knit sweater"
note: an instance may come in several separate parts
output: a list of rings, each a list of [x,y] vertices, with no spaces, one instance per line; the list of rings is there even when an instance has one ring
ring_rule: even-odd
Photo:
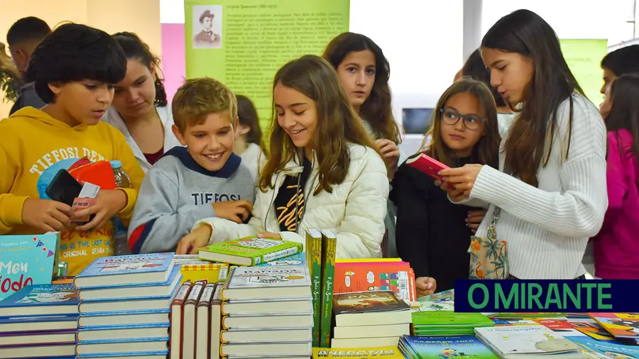
[[[481,40],[491,48],[528,57],[534,64],[521,111],[503,146],[504,172],[537,187],[537,171],[550,160],[557,132],[557,109],[569,99],[568,145],[572,137],[572,94],[584,92],[564,60],[557,34],[544,19],[529,10],[517,10],[499,19]],[[550,145],[546,146],[546,140]],[[547,147],[547,150],[545,148]]]

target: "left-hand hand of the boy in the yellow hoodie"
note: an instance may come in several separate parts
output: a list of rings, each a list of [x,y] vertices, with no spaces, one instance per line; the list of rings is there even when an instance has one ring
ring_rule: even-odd
[[[70,206],[50,199],[28,198],[22,206],[22,223],[44,232],[70,228],[72,216]]]

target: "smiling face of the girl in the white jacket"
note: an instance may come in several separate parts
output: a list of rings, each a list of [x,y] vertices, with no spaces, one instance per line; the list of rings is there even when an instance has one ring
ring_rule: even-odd
[[[273,89],[278,125],[295,147],[312,149],[317,128],[317,105],[301,92],[279,83]]]

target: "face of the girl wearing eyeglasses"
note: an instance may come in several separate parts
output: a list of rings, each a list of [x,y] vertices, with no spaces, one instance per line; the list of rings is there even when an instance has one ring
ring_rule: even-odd
[[[444,118],[449,114],[461,114],[463,116],[476,116],[478,118],[486,118],[486,110],[479,104],[475,96],[468,92],[461,92],[450,96],[444,104],[444,114],[441,116],[440,133],[442,140],[448,148],[450,148],[458,158],[465,158],[471,155],[476,143],[479,142],[481,136],[486,132],[486,123],[479,121],[476,123],[476,129],[469,130],[464,126],[464,121],[460,118],[454,125],[447,124],[454,122],[453,118]],[[473,127],[473,126],[469,126]]]

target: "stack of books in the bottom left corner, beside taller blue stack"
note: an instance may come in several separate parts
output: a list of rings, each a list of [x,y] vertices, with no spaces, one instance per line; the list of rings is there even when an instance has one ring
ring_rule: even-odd
[[[0,358],[75,358],[77,291],[29,285],[0,302]]]

